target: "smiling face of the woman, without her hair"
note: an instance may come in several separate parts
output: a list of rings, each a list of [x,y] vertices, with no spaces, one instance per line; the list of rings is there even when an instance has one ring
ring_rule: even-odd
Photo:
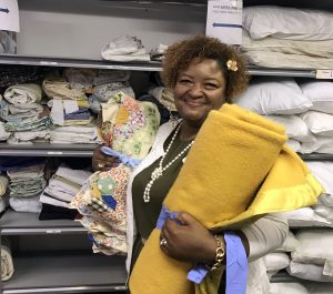
[[[174,103],[184,122],[199,126],[213,109],[225,102],[225,79],[216,60],[193,60],[180,72],[173,89]]]

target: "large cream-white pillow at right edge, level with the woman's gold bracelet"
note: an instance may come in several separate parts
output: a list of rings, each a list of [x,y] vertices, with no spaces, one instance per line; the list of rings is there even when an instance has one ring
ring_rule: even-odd
[[[291,253],[293,262],[317,265],[333,262],[332,229],[304,229],[295,233],[295,236],[300,245]]]

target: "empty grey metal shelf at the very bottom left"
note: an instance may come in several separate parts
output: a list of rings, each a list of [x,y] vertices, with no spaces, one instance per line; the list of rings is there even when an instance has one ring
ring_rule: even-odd
[[[4,294],[97,291],[114,293],[127,290],[124,258],[120,256],[68,252],[17,256],[13,257],[13,263],[14,275],[2,284]]]

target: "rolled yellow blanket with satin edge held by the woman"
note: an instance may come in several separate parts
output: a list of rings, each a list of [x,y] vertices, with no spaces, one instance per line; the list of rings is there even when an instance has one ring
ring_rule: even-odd
[[[211,111],[164,200],[208,229],[312,205],[322,187],[290,149],[284,128],[236,105]],[[190,294],[193,264],[168,257],[153,230],[130,277],[131,294]],[[202,287],[195,293],[209,293]]]

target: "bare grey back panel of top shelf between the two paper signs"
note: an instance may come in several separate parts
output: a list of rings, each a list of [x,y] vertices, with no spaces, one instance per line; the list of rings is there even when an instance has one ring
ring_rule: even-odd
[[[204,33],[205,6],[21,0],[18,54],[100,59],[103,44],[137,36],[150,50]]]

